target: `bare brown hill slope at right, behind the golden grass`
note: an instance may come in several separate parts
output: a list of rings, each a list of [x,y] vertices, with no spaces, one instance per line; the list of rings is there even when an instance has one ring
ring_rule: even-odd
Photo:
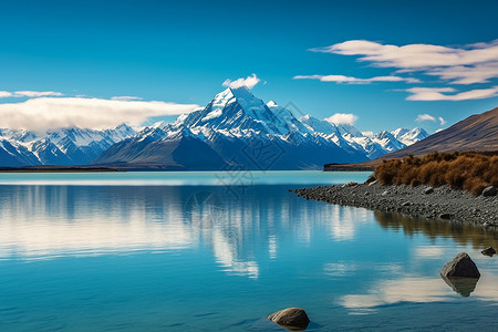
[[[498,107],[463,120],[408,147],[383,155],[378,159],[402,158],[432,152],[498,151]]]

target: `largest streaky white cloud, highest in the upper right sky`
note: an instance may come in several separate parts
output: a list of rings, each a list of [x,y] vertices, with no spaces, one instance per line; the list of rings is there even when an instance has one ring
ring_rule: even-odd
[[[366,40],[350,40],[313,52],[357,55],[359,61],[380,68],[396,68],[398,72],[419,71],[449,80],[453,84],[487,83],[498,77],[498,40],[459,48],[433,44],[403,46]]]

